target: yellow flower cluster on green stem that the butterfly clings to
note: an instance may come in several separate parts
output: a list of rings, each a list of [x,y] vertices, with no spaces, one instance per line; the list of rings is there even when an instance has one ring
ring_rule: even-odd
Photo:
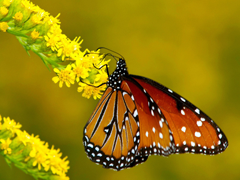
[[[27,52],[32,50],[51,66],[57,75],[52,80],[59,87],[76,82],[84,97],[100,98],[106,85],[98,86],[108,78],[106,68],[101,67],[109,61],[99,50],[81,51],[80,37],[70,40],[62,34],[58,17],[28,0],[0,0],[0,31],[15,35]]]

